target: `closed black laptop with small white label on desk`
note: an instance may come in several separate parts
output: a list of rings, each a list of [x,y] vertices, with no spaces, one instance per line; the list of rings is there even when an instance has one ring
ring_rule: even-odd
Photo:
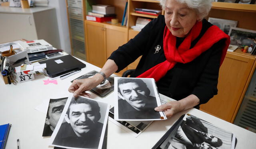
[[[62,57],[40,61],[39,63],[46,63],[46,72],[52,78],[86,67],[84,63],[78,61],[72,55],[64,55]]]

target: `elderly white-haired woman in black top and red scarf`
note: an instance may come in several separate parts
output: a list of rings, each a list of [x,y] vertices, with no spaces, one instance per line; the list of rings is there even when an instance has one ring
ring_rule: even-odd
[[[164,16],[148,23],[138,35],[114,51],[94,77],[76,80],[74,96],[90,94],[104,77],[119,72],[142,55],[131,77],[154,78],[158,91],[177,101],[156,107],[167,117],[199,108],[217,94],[218,73],[230,38],[207,22],[212,0],[161,0]]]

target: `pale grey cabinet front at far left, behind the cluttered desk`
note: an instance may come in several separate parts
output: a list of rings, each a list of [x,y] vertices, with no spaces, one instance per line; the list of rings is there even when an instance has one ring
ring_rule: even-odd
[[[32,14],[0,14],[0,43],[38,39]]]

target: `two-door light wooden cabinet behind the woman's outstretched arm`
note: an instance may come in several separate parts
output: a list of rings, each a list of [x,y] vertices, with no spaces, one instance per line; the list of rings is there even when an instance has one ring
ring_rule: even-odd
[[[98,67],[103,67],[111,53],[127,42],[127,28],[120,25],[85,21],[85,29],[87,61]],[[117,74],[121,76],[126,70]]]

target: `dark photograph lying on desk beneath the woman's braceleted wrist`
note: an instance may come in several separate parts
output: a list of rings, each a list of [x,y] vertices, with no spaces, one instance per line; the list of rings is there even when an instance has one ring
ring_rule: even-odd
[[[90,77],[94,76],[96,73],[98,73],[98,71],[90,71],[89,73],[79,76],[78,78],[76,78],[74,80],[90,78]],[[73,82],[73,80],[71,82]],[[104,82],[102,82],[95,88],[92,88],[92,90],[90,90],[90,91],[93,92],[94,94],[97,94],[100,97],[104,97],[104,96],[108,95],[110,92],[112,92],[113,90],[114,90],[114,78],[108,77]]]

